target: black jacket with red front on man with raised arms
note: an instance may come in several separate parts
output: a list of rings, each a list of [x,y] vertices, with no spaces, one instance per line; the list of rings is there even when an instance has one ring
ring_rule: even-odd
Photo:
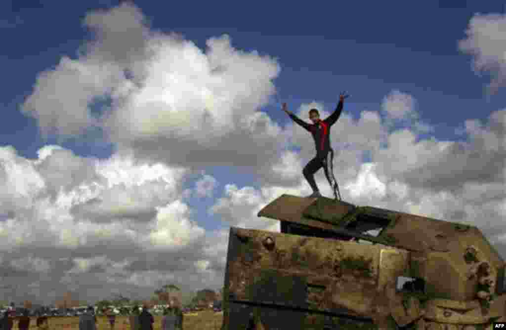
[[[339,119],[342,111],[343,101],[339,101],[338,107],[331,115],[329,115],[326,119],[319,120],[314,124],[301,120],[294,114],[290,114],[289,116],[293,119],[293,121],[297,122],[300,126],[309,131],[311,135],[313,135],[316,147],[316,155],[318,157],[324,157],[330,150],[330,127],[334,125],[334,122]]]

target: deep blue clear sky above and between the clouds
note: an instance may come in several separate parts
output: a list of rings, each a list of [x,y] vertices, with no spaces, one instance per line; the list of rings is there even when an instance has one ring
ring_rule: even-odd
[[[201,5],[204,7],[195,11],[189,3],[174,7],[143,2],[141,8],[155,29],[180,32],[200,48],[205,48],[209,37],[227,33],[237,49],[279,58],[282,71],[275,83],[281,101],[290,107],[313,100],[333,107],[339,93],[347,90],[352,98],[345,111],[356,118],[363,109],[379,110],[382,98],[399,89],[416,97],[421,117],[437,127],[435,137],[458,139],[454,129],[463,120],[484,119],[506,100],[503,95],[486,99],[484,78],[470,70],[470,57],[457,48],[475,12],[500,11],[503,4],[474,2],[478,6],[473,7],[468,2],[469,6],[451,7],[450,3],[454,2],[346,2],[339,7],[309,8],[226,2],[207,5],[209,8]],[[4,145],[34,158],[41,146],[57,143],[56,138],[41,139],[35,120],[21,114],[18,106],[31,93],[38,72],[54,67],[63,55],[74,57],[82,39],[90,37],[81,25],[87,11],[116,4],[21,1],[3,11],[4,22],[14,25],[4,28],[4,49],[8,51],[0,61],[4,77],[14,77],[0,96],[7,114],[0,123]],[[16,23],[16,17],[22,22]],[[277,108],[274,103],[262,110],[284,125],[288,118]],[[109,144],[83,139],[63,145],[81,156],[107,158],[113,152]],[[232,165],[226,170],[217,168],[213,174],[220,178],[227,173],[240,186],[255,186],[251,175],[235,172]],[[202,216],[205,209],[199,208]],[[212,221],[209,226],[215,224]]]

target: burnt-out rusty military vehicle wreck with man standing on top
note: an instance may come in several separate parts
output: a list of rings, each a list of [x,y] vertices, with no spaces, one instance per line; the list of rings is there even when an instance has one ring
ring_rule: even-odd
[[[505,263],[474,226],[325,197],[230,229],[222,330],[481,330],[506,321]]]

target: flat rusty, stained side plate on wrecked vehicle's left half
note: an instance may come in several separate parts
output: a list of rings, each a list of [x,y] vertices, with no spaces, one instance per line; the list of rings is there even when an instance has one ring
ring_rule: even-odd
[[[406,264],[407,252],[379,245],[232,228],[225,284],[236,303],[367,317],[379,266],[401,274]]]

